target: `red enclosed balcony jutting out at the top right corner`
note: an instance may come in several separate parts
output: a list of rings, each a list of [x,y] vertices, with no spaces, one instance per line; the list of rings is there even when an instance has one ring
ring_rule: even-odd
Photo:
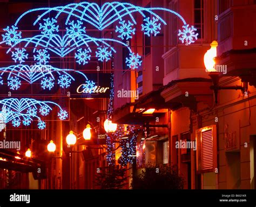
[[[227,66],[227,76],[256,85],[256,5],[232,6],[219,15],[217,65]]]

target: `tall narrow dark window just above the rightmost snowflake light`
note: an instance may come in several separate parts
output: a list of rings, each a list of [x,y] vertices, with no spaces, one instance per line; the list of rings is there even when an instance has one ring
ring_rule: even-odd
[[[197,38],[204,38],[204,0],[194,0],[194,27],[197,28]]]

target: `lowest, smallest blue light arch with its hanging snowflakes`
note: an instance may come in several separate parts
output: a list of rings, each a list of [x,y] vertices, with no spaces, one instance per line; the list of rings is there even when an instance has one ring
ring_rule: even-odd
[[[2,109],[5,109],[4,123],[11,122],[14,127],[19,127],[21,123],[29,126],[33,118],[38,120],[38,129],[45,129],[45,122],[40,116],[46,116],[52,111],[50,105],[59,108],[58,118],[65,120],[68,118],[68,112],[63,110],[57,103],[50,101],[37,101],[32,98],[6,98],[0,100]],[[38,110],[39,109],[39,110]]]

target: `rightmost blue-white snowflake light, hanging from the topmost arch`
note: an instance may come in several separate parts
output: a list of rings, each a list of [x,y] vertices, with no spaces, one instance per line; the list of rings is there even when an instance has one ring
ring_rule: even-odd
[[[181,40],[182,43],[184,43],[184,41],[185,41],[186,44],[190,45],[192,42],[194,42],[194,39],[197,40],[198,33],[195,34],[195,31],[197,31],[197,29],[194,28],[194,26],[190,27],[187,24],[182,27],[183,27],[183,31],[179,30],[179,33],[178,33],[178,36],[181,35],[179,40]]]

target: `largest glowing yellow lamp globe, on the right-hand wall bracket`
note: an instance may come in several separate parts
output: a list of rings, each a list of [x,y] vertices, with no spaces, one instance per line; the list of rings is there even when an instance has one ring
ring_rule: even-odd
[[[217,46],[218,42],[217,41],[212,41],[210,44],[211,48],[208,49],[208,51],[204,55],[204,63],[205,63],[205,68],[206,72],[215,72],[215,61],[213,60],[217,56]]]

